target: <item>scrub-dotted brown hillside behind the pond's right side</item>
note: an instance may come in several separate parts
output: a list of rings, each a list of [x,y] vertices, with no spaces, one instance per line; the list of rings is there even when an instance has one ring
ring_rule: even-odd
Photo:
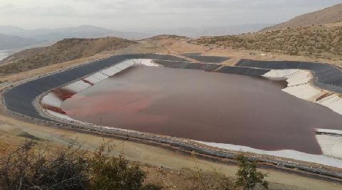
[[[241,35],[203,37],[190,43],[342,60],[342,26],[308,26]]]

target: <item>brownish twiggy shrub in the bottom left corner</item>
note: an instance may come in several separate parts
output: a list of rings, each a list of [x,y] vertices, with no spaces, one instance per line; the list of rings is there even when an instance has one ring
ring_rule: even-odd
[[[71,147],[53,156],[46,149],[33,150],[26,141],[0,160],[0,186],[4,189],[85,189],[86,158]]]

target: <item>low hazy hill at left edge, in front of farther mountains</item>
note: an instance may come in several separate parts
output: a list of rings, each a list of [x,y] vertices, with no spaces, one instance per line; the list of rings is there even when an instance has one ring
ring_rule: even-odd
[[[21,38],[13,35],[0,34],[0,50],[9,50],[19,47],[26,47],[37,43],[37,40],[31,38]]]

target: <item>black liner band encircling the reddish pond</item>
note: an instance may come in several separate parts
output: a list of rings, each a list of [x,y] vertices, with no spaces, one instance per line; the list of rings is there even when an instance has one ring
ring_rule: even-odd
[[[182,150],[187,151],[195,151],[199,154],[234,159],[236,157],[236,153],[229,152],[229,150],[217,150],[214,148],[202,147],[200,145],[195,145],[193,143],[186,143],[184,140],[178,140],[177,138],[167,138],[160,137],[157,135],[149,135],[146,133],[137,133],[127,130],[118,130],[118,129],[105,129],[105,128],[93,128],[86,125],[81,125],[79,123],[71,123],[66,121],[60,121],[58,119],[52,120],[51,118],[46,118],[41,116],[39,111],[36,110],[33,103],[35,99],[43,93],[56,89],[58,87],[64,86],[68,83],[74,82],[78,79],[86,77],[90,74],[98,72],[101,69],[105,69],[106,67],[110,67],[118,64],[119,62],[123,62],[124,60],[129,59],[152,59],[155,62],[163,65],[164,67],[172,67],[172,68],[184,68],[184,69],[203,69],[207,71],[213,71],[216,69],[217,72],[222,73],[231,73],[231,74],[245,74],[249,76],[261,76],[266,72],[269,72],[269,69],[289,69],[289,68],[313,68],[314,72],[317,73],[318,76],[322,76],[320,82],[337,82],[334,80],[333,76],[328,76],[329,74],[340,74],[336,72],[336,70],[329,69],[329,67],[322,67],[321,65],[309,65],[308,63],[296,63],[291,62],[289,66],[285,64],[279,64],[275,67],[274,63],[267,63],[266,65],[261,65],[262,62],[252,62],[251,60],[243,60],[239,62],[238,65],[244,67],[221,67],[219,65],[214,64],[197,64],[192,62],[187,62],[187,60],[183,60],[180,57],[174,57],[171,55],[156,55],[156,54],[134,54],[134,55],[115,55],[113,57],[109,57],[103,60],[98,60],[95,62],[90,62],[85,65],[79,65],[77,67],[72,67],[71,69],[66,69],[62,72],[56,72],[53,74],[48,74],[42,77],[38,77],[33,79],[30,82],[26,82],[23,84],[19,84],[18,86],[14,86],[11,89],[4,91],[4,104],[6,108],[13,114],[23,116],[25,118],[32,119],[33,121],[38,121],[42,123],[50,123],[51,125],[58,126],[66,126],[73,129],[81,129],[88,130],[93,132],[104,133],[108,135],[120,135],[126,136],[129,138],[138,138],[140,140],[148,140],[155,143],[165,143],[167,145],[172,145],[175,147],[180,147]],[[310,63],[312,64],[312,63]],[[305,66],[305,67],[304,67]],[[259,67],[261,69],[249,68],[249,67]],[[218,69],[219,68],[219,69]],[[329,74],[323,74],[323,71],[328,71]],[[334,83],[335,84],[335,83]],[[338,83],[340,84],[340,83]],[[296,168],[303,172],[310,172],[312,174],[319,174],[326,177],[333,177],[336,179],[342,179],[341,172],[334,172],[330,169],[322,168],[322,167],[308,167],[305,164],[299,164],[294,162],[286,162],[280,160],[271,160],[263,157],[250,157],[250,160],[257,159],[259,162],[266,162],[273,164],[276,168]]]

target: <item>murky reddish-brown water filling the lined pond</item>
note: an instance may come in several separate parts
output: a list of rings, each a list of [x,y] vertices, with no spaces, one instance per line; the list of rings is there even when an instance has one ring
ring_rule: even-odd
[[[342,129],[342,116],[283,87],[237,74],[135,67],[67,99],[63,110],[88,123],[321,154],[314,128]]]

